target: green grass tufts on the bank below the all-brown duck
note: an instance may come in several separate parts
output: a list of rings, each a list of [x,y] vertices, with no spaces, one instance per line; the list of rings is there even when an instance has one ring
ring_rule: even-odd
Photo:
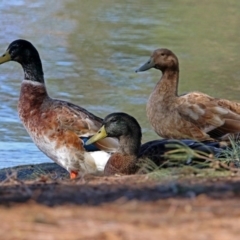
[[[230,139],[229,146],[216,158],[212,154],[175,145],[164,154],[166,161],[157,166],[149,159],[140,161],[140,172],[151,178],[227,177],[240,173],[240,141]]]

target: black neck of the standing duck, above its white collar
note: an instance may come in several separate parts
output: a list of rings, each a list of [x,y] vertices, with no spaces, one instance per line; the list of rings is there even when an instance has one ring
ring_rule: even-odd
[[[44,84],[44,74],[39,56],[35,57],[32,61],[21,62],[21,65],[23,67],[25,80]]]

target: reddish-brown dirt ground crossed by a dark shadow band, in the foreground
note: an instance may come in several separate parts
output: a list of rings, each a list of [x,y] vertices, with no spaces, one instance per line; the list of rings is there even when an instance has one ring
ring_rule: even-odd
[[[235,240],[240,176],[8,176],[0,217],[3,240]]]

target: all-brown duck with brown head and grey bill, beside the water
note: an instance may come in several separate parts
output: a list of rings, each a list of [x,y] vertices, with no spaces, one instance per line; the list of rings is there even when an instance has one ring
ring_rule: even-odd
[[[150,68],[162,71],[146,108],[148,119],[159,136],[204,141],[240,132],[240,103],[201,92],[178,95],[179,64],[172,51],[155,50],[136,72]]]

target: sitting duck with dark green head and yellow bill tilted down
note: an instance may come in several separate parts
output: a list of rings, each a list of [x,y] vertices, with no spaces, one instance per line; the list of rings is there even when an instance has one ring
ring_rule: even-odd
[[[179,147],[189,147],[193,150],[206,154],[220,156],[224,146],[219,142],[208,141],[200,143],[191,139],[161,139],[153,140],[141,145],[142,131],[138,121],[124,112],[116,112],[107,115],[103,119],[102,127],[89,138],[86,145],[93,144],[106,137],[119,140],[119,147],[108,159],[104,175],[131,175],[140,169],[139,161],[149,159],[157,166],[163,164],[167,159],[165,154]]]

